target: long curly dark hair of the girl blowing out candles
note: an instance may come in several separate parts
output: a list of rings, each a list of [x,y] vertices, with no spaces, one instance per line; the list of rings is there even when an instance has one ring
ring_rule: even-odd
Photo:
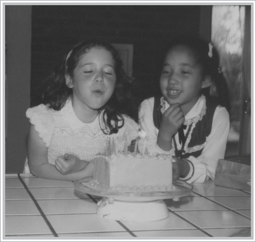
[[[117,79],[114,92],[107,103],[99,109],[99,112],[103,112],[104,124],[109,128],[109,134],[117,133],[118,129],[124,125],[123,115],[128,115],[131,118],[136,117],[135,99],[132,95],[133,79],[124,72],[118,51],[103,40],[83,41],[70,50],[62,65],[57,66],[41,86],[39,90],[41,103],[49,105],[49,108],[54,110],[60,110],[64,107],[67,99],[73,93],[72,89],[66,85],[65,75],[73,77],[74,69],[80,58],[93,47],[103,47],[108,50],[116,63]],[[121,125],[118,125],[120,121]],[[106,133],[106,130],[103,132]]]

